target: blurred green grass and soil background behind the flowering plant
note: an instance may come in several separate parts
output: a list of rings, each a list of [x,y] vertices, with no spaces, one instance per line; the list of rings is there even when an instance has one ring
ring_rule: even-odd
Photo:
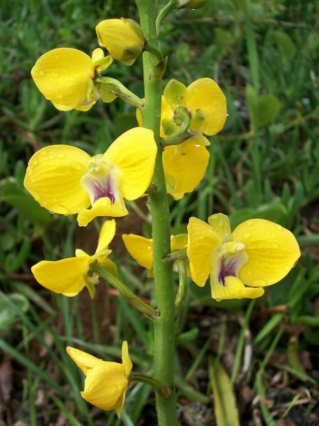
[[[164,2],[157,2],[158,9]],[[181,425],[215,423],[213,364],[234,384],[243,425],[318,425],[319,345],[319,110],[318,1],[207,0],[176,11],[163,26],[160,47],[169,62],[164,84],[211,77],[222,87],[229,116],[210,138],[210,164],[192,194],[171,202],[173,233],[192,215],[213,212],[232,226],[273,220],[294,232],[302,258],[257,301],[214,302],[207,285],[189,283],[177,327],[176,382]],[[67,143],[90,155],[105,152],[136,126],[120,100],[89,112],[59,112],[30,77],[49,49],[97,47],[102,19],[138,20],[133,1],[28,0],[1,2],[0,46],[0,424],[155,425],[154,395],[139,383],[128,392],[121,421],[86,404],[83,375],[65,353],[72,345],[104,359],[120,358],[129,342],[136,370],[152,371],[152,330],[105,283],[92,302],[39,286],[30,267],[39,260],[93,252],[101,220],[79,229],[75,217],[50,215],[24,190],[35,150]],[[107,75],[143,96],[142,62],[114,61]],[[126,254],[120,235],[149,236],[143,200],[117,220],[113,260],[127,285],[153,301],[152,282]],[[217,357],[217,361],[211,358]],[[216,372],[216,371],[215,371]],[[19,423],[20,422],[20,423]]]

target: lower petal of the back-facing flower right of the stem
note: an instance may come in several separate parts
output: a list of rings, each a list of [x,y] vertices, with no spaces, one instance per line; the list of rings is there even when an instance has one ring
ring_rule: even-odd
[[[163,167],[167,191],[175,200],[191,192],[203,179],[209,162],[209,152],[204,146],[189,139],[163,151]]]

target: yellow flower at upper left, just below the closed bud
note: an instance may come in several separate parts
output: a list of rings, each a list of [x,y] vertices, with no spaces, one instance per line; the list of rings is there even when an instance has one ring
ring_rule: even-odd
[[[89,110],[100,98],[93,79],[112,62],[103,50],[93,50],[92,58],[81,50],[59,47],[44,53],[31,70],[32,78],[46,99],[60,111]],[[115,99],[111,95],[105,102]]]

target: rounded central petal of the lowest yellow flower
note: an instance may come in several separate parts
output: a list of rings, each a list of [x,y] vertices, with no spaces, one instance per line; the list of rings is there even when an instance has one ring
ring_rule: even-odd
[[[98,362],[87,371],[82,397],[104,410],[112,410],[122,402],[128,387],[124,365],[118,362]]]

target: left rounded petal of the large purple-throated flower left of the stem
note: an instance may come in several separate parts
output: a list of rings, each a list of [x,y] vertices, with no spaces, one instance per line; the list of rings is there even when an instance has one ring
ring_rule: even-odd
[[[50,145],[30,159],[24,186],[33,198],[54,213],[74,214],[90,205],[80,180],[90,156],[69,145]]]

